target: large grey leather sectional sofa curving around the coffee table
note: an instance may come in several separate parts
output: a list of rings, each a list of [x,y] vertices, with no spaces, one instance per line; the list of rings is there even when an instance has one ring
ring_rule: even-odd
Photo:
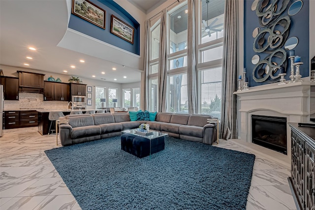
[[[169,136],[211,145],[217,140],[217,125],[208,123],[210,115],[157,113],[155,121],[130,121],[128,113],[67,115],[60,124],[63,146],[121,135],[122,130],[138,128],[141,123]]]

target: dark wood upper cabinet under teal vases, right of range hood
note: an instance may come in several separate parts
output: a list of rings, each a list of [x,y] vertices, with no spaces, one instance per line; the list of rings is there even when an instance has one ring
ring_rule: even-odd
[[[69,101],[70,86],[67,83],[44,81],[45,101]]]

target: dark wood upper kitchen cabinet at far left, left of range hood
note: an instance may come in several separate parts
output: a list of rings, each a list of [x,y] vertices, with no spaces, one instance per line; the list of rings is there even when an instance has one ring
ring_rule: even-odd
[[[4,100],[19,100],[19,78],[1,77]]]

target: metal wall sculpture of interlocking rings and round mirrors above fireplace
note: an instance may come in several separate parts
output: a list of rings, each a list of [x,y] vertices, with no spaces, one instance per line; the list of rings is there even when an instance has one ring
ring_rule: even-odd
[[[255,62],[252,78],[255,82],[278,82],[280,67],[286,69],[286,51],[282,49],[289,34],[291,20],[288,15],[282,15],[289,0],[254,0],[252,11],[256,12],[261,28],[255,28],[253,51],[257,54],[269,54],[257,62],[257,54],[252,58]],[[259,57],[258,57],[259,58]],[[261,56],[260,56],[261,58]]]

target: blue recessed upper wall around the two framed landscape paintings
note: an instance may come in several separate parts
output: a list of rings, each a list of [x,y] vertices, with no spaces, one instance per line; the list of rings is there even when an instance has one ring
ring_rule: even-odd
[[[68,28],[77,30],[81,33],[94,37],[108,44],[114,45],[136,55],[140,55],[140,24],[124,8],[122,8],[113,0],[90,1],[106,11],[105,30],[73,14],[71,14],[70,16]],[[121,39],[120,37],[110,32],[112,14],[134,28],[133,44],[125,41],[124,39]]]

